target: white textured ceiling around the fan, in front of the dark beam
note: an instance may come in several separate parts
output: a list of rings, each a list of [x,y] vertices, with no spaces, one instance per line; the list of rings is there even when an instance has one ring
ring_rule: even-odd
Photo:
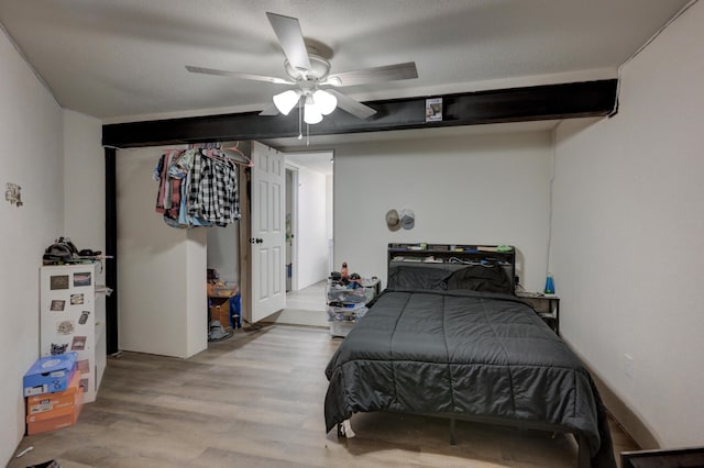
[[[333,71],[415,60],[361,100],[612,78],[690,0],[0,0],[0,23],[64,108],[121,122],[263,109],[284,77],[266,19],[298,18]]]

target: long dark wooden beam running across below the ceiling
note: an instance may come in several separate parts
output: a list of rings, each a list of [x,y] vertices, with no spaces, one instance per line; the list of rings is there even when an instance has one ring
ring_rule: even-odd
[[[377,113],[367,120],[338,109],[319,124],[310,125],[309,132],[310,135],[331,135],[602,116],[616,108],[616,79],[607,79],[372,101],[365,104]],[[426,122],[427,98],[442,98],[441,122]],[[102,144],[127,148],[297,135],[297,115],[262,116],[258,112],[243,112],[103,125]]]

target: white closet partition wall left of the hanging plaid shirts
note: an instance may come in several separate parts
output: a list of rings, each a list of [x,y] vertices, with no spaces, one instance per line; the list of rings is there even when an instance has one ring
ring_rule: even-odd
[[[119,347],[186,358],[208,346],[207,230],[170,227],[154,211],[164,149],[117,156]]]

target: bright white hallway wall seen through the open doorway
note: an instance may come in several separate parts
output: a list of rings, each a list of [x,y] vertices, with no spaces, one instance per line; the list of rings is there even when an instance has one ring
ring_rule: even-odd
[[[326,176],[298,167],[298,289],[328,277]]]

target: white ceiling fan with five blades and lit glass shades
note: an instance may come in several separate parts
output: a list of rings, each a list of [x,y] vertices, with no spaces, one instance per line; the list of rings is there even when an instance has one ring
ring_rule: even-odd
[[[286,57],[284,60],[286,78],[190,65],[187,65],[186,69],[197,74],[290,85],[294,89],[275,94],[274,103],[264,109],[260,115],[276,115],[279,112],[288,115],[294,108],[299,107],[302,108],[304,121],[311,125],[322,121],[323,115],[330,114],[338,107],[359,119],[367,119],[376,113],[376,110],[343,94],[337,88],[418,78],[414,62],[331,74],[330,62],[318,55],[316,51],[309,51],[306,47],[297,19],[270,12],[266,16]]]

